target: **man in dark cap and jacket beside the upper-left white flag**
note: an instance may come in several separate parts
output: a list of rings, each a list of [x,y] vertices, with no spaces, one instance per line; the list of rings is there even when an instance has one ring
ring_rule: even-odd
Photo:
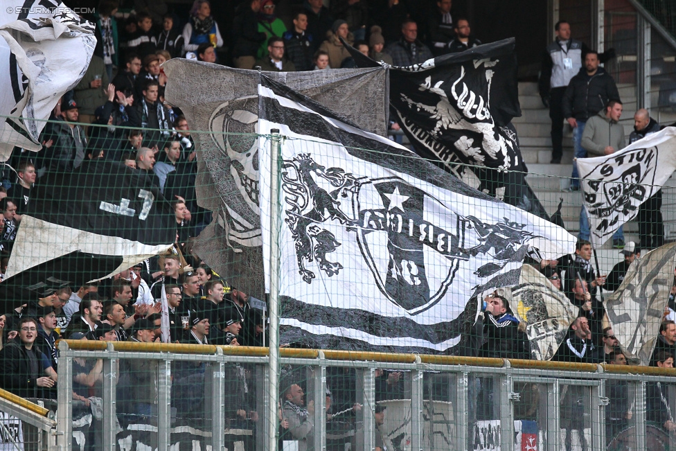
[[[63,121],[53,125],[53,144],[45,149],[44,166],[52,173],[69,173],[79,168],[87,148],[87,136],[77,124],[80,115],[75,100],[61,105],[61,116]]]

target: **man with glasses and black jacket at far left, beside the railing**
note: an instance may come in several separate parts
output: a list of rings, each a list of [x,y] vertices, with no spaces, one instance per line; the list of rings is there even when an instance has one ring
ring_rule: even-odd
[[[46,358],[37,350],[37,321],[22,317],[19,335],[0,351],[0,383],[2,388],[21,398],[42,398],[43,389],[54,387],[54,380],[45,375]]]

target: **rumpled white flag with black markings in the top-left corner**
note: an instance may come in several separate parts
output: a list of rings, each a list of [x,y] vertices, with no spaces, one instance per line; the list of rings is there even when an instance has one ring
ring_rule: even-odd
[[[3,3],[0,36],[0,159],[5,161],[15,146],[42,148],[45,121],[84,76],[96,37],[94,24],[58,0]]]

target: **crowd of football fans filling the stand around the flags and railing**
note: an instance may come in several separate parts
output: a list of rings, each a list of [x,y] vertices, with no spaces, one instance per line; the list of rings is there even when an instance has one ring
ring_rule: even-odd
[[[11,181],[10,188],[0,188],[3,224],[0,269],[5,272],[33,186],[48,173],[78,168],[85,159],[119,161],[145,171],[172,202],[177,241],[168,254],[134,265],[107,281],[87,283],[72,290],[62,288],[1,315],[0,387],[26,398],[54,398],[59,355],[56,341],[60,337],[159,341],[162,334],[159,299],[163,290],[169,307],[171,342],[266,346],[263,311],[251,308],[247,293],[229,284],[227,274],[213,272],[190,249],[191,238],[211,222],[211,213],[197,206],[195,142],[186,117],[164,100],[167,77],[161,64],[185,57],[240,69],[259,66],[267,71],[355,67],[341,37],[375,60],[407,66],[481,44],[471,34],[467,19],[451,15],[451,0],[430,3],[431,8],[422,17],[415,2],[389,0],[378,2],[377,6],[375,3],[337,0],[327,8],[321,0],[307,0],[282,16],[276,14],[273,0],[244,0],[237,8],[231,28],[224,30],[211,15],[208,0],[196,0],[189,17],[177,17],[163,1],[154,1],[123,18],[118,15],[117,0],[100,1],[98,15],[93,18],[98,47],[80,83],[53,110],[52,121],[42,137],[43,150],[33,154],[17,149],[12,155],[17,178]],[[619,119],[618,105],[621,114],[614,81],[598,66],[604,58],[611,57],[599,55],[572,39],[565,21],[557,24],[556,33],[558,39],[547,48],[544,57],[540,83],[543,102],[550,107],[552,118],[552,163],[560,163],[564,119],[575,130],[576,156],[619,150],[624,143],[623,134],[617,137],[617,144],[596,142],[598,136],[612,134],[610,130]],[[231,46],[224,49],[226,42]],[[598,93],[585,96],[592,87]],[[645,111],[636,113],[635,122],[637,135],[632,139],[659,128]],[[574,177],[575,173],[571,189],[576,190]],[[656,222],[652,215],[655,211],[659,214],[659,202],[661,198],[656,197],[652,208],[646,209],[643,222],[648,225],[641,232],[644,249],[662,244],[660,237],[664,233],[649,227]],[[553,288],[564,291],[579,309],[578,318],[553,360],[626,364],[596,290],[616,290],[628,265],[640,255],[640,249],[634,242],[625,245],[619,236],[616,245],[623,249],[624,260],[605,278],[594,272],[587,238],[588,226],[587,236],[581,234],[575,254],[558,261],[533,263]],[[653,366],[671,367],[676,357],[674,293],[676,288],[672,290],[669,310],[652,355]],[[508,299],[490,294],[483,299],[482,310],[484,315],[473,328],[477,346],[470,354],[530,358],[528,337]],[[204,401],[200,398],[204,389],[199,388],[204,384],[204,364],[181,363],[185,364],[177,364],[172,371],[172,407],[186,418],[199,416],[198,409]],[[118,403],[119,412],[157,415],[157,385],[152,376],[157,368],[152,365],[151,361],[130,361],[121,366],[118,399],[128,402]],[[73,366],[73,399],[87,404],[91,396],[100,396],[102,390],[101,360],[75,360]],[[227,378],[232,382],[226,391],[229,420],[256,423],[255,391],[247,388],[255,385],[251,373],[233,364]],[[401,373],[396,371],[379,371],[377,400],[400,398],[400,378]],[[327,412],[335,424],[339,418],[354,416],[361,408],[355,400],[356,380],[355,371],[350,369],[332,369],[328,374]],[[302,385],[301,380],[287,383],[281,405],[281,427],[299,440],[300,450],[305,449],[303,443],[307,446],[312,436],[308,413],[314,408],[305,405]],[[490,386],[484,384],[483,388],[483,393],[490,393]],[[610,403],[617,415],[608,425],[612,429],[609,431],[615,432],[628,424],[630,408],[624,402],[627,395],[621,388],[611,393],[616,393],[611,394]],[[649,419],[666,430],[676,430],[676,423],[667,412],[668,393],[662,393],[659,385],[650,386],[648,393],[654,398],[648,400],[648,405],[652,405],[648,410],[655,412],[649,413]],[[564,403],[575,405],[579,401],[575,396],[578,395],[570,393]],[[479,396],[475,418],[492,418],[489,401],[481,407],[481,399]],[[375,414],[382,414],[382,409]],[[382,418],[378,421],[382,423]]]

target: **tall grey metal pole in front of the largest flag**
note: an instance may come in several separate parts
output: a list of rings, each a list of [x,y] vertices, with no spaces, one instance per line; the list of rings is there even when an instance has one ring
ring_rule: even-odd
[[[277,403],[279,398],[279,129],[271,130],[270,144],[270,299],[269,299],[269,362],[268,362],[268,412],[267,449],[277,449]]]

